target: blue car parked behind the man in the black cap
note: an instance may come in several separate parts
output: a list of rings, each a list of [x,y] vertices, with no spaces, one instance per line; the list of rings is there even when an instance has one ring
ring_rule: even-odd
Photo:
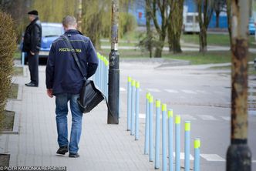
[[[39,51],[39,59],[48,58],[52,42],[64,33],[61,23],[42,22],[42,42]],[[23,41],[21,43],[22,47]],[[21,55],[22,59],[22,55]],[[22,60],[21,60],[22,61]],[[25,55],[25,63],[27,62]]]

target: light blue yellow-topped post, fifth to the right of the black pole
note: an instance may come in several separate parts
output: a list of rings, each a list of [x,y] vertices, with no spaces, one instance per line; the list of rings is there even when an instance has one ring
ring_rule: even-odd
[[[150,96],[150,112],[149,112],[149,126],[150,126],[150,162],[153,162],[153,96]]]

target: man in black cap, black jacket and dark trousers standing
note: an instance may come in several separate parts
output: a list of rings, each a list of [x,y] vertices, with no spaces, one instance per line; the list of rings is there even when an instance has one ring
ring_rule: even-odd
[[[23,52],[27,52],[31,82],[25,86],[39,86],[39,49],[42,40],[42,26],[39,21],[39,12],[33,10],[28,13],[30,24],[25,28]]]

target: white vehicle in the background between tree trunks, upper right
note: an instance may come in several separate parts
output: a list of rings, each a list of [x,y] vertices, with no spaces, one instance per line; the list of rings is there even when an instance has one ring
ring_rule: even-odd
[[[198,12],[185,12],[183,16],[183,32],[199,33]]]

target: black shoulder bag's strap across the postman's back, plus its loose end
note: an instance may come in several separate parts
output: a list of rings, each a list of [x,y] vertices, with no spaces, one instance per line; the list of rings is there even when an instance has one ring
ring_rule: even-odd
[[[81,67],[81,64],[77,58],[77,55],[76,55],[76,51],[74,49],[74,46],[72,45],[72,43],[70,42],[69,38],[66,37],[66,35],[61,35],[62,39],[66,40],[65,42],[68,44],[68,47],[72,53],[72,56],[74,57],[75,61],[76,61],[76,64],[79,68],[79,71],[81,72],[81,74],[83,75],[83,79],[86,81],[86,76],[83,74],[83,69]],[[101,94],[103,95],[105,101],[106,101],[106,106],[107,106],[107,109],[109,109],[109,112],[110,112],[110,115],[113,116],[113,113],[111,112],[110,108],[109,108],[109,102],[107,102],[106,100],[106,96],[101,92]]]

